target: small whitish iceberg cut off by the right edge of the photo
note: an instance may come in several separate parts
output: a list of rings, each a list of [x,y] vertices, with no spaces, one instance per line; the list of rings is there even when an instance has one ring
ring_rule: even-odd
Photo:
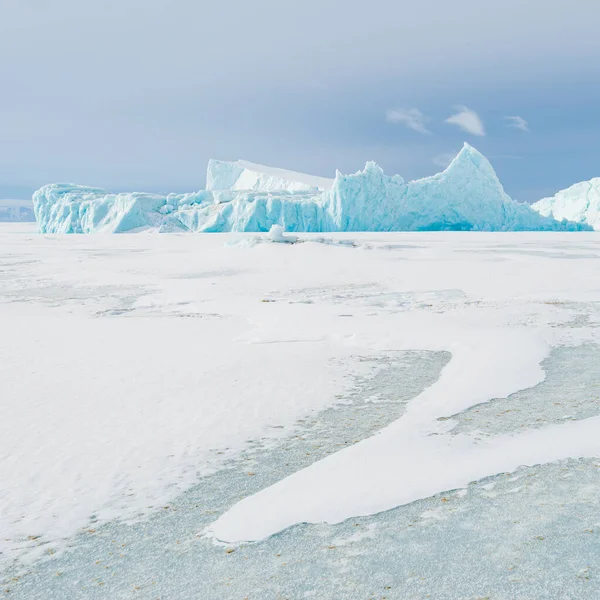
[[[568,219],[600,231],[600,177],[576,183],[551,198],[542,198],[531,208],[546,217]]]

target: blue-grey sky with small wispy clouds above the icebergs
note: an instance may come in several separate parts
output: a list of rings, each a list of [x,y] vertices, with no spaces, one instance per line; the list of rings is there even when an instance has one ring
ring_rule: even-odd
[[[600,176],[597,0],[0,0],[0,197],[192,191],[208,158]]]

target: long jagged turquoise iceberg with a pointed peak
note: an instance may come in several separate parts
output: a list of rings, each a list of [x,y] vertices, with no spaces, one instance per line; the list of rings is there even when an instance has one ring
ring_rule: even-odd
[[[465,144],[443,172],[406,183],[374,162],[335,179],[244,161],[211,160],[190,194],[112,194],[50,184],[33,195],[43,233],[335,231],[578,231],[511,199],[492,165]]]

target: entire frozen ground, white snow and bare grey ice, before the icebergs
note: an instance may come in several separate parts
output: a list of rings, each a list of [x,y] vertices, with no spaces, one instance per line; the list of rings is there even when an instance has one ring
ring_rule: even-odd
[[[599,234],[299,238],[0,225],[2,590],[600,596]]]

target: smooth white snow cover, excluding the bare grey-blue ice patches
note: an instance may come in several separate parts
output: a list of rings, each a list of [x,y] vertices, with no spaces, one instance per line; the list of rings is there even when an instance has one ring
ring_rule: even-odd
[[[569,326],[572,303],[600,301],[596,234],[352,238],[2,225],[0,560],[35,556],[28,536],[60,548],[92,515],[150,513],[245,442],[334,403],[358,358],[397,350],[452,360],[400,421],[243,500],[212,535],[260,539],[600,450],[598,419],[483,442],[437,420],[535,385],[554,345],[598,341],[593,320]]]

